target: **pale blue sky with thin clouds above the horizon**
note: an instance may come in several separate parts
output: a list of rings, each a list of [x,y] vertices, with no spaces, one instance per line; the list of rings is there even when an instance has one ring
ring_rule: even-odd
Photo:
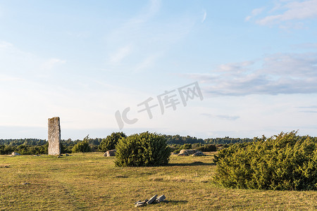
[[[0,0],[0,139],[317,136],[317,0]]]

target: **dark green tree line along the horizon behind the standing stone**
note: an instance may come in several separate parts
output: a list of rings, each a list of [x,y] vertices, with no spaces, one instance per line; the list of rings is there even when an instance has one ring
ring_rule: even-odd
[[[86,136],[84,139],[61,140],[61,153],[72,153],[80,151],[89,152],[104,152],[114,148],[114,142],[118,141],[120,136],[125,137],[123,132],[113,132],[104,139],[91,139]],[[194,136],[180,136],[180,135],[162,135],[166,138],[166,143],[170,148],[177,153],[182,148],[199,148],[202,151],[216,151],[216,145],[226,145],[230,143],[243,143],[246,141],[253,141],[253,139],[240,138],[216,138],[216,139],[197,139]],[[116,142],[115,141],[115,142]],[[108,146],[109,144],[109,146]],[[46,154],[48,148],[48,141],[45,139],[0,139],[0,155],[11,154],[13,151],[22,155]]]

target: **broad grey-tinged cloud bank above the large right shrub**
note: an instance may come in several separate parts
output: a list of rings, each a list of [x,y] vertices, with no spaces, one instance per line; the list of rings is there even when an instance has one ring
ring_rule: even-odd
[[[199,80],[213,95],[312,94],[317,93],[317,53],[277,53],[186,76]]]

